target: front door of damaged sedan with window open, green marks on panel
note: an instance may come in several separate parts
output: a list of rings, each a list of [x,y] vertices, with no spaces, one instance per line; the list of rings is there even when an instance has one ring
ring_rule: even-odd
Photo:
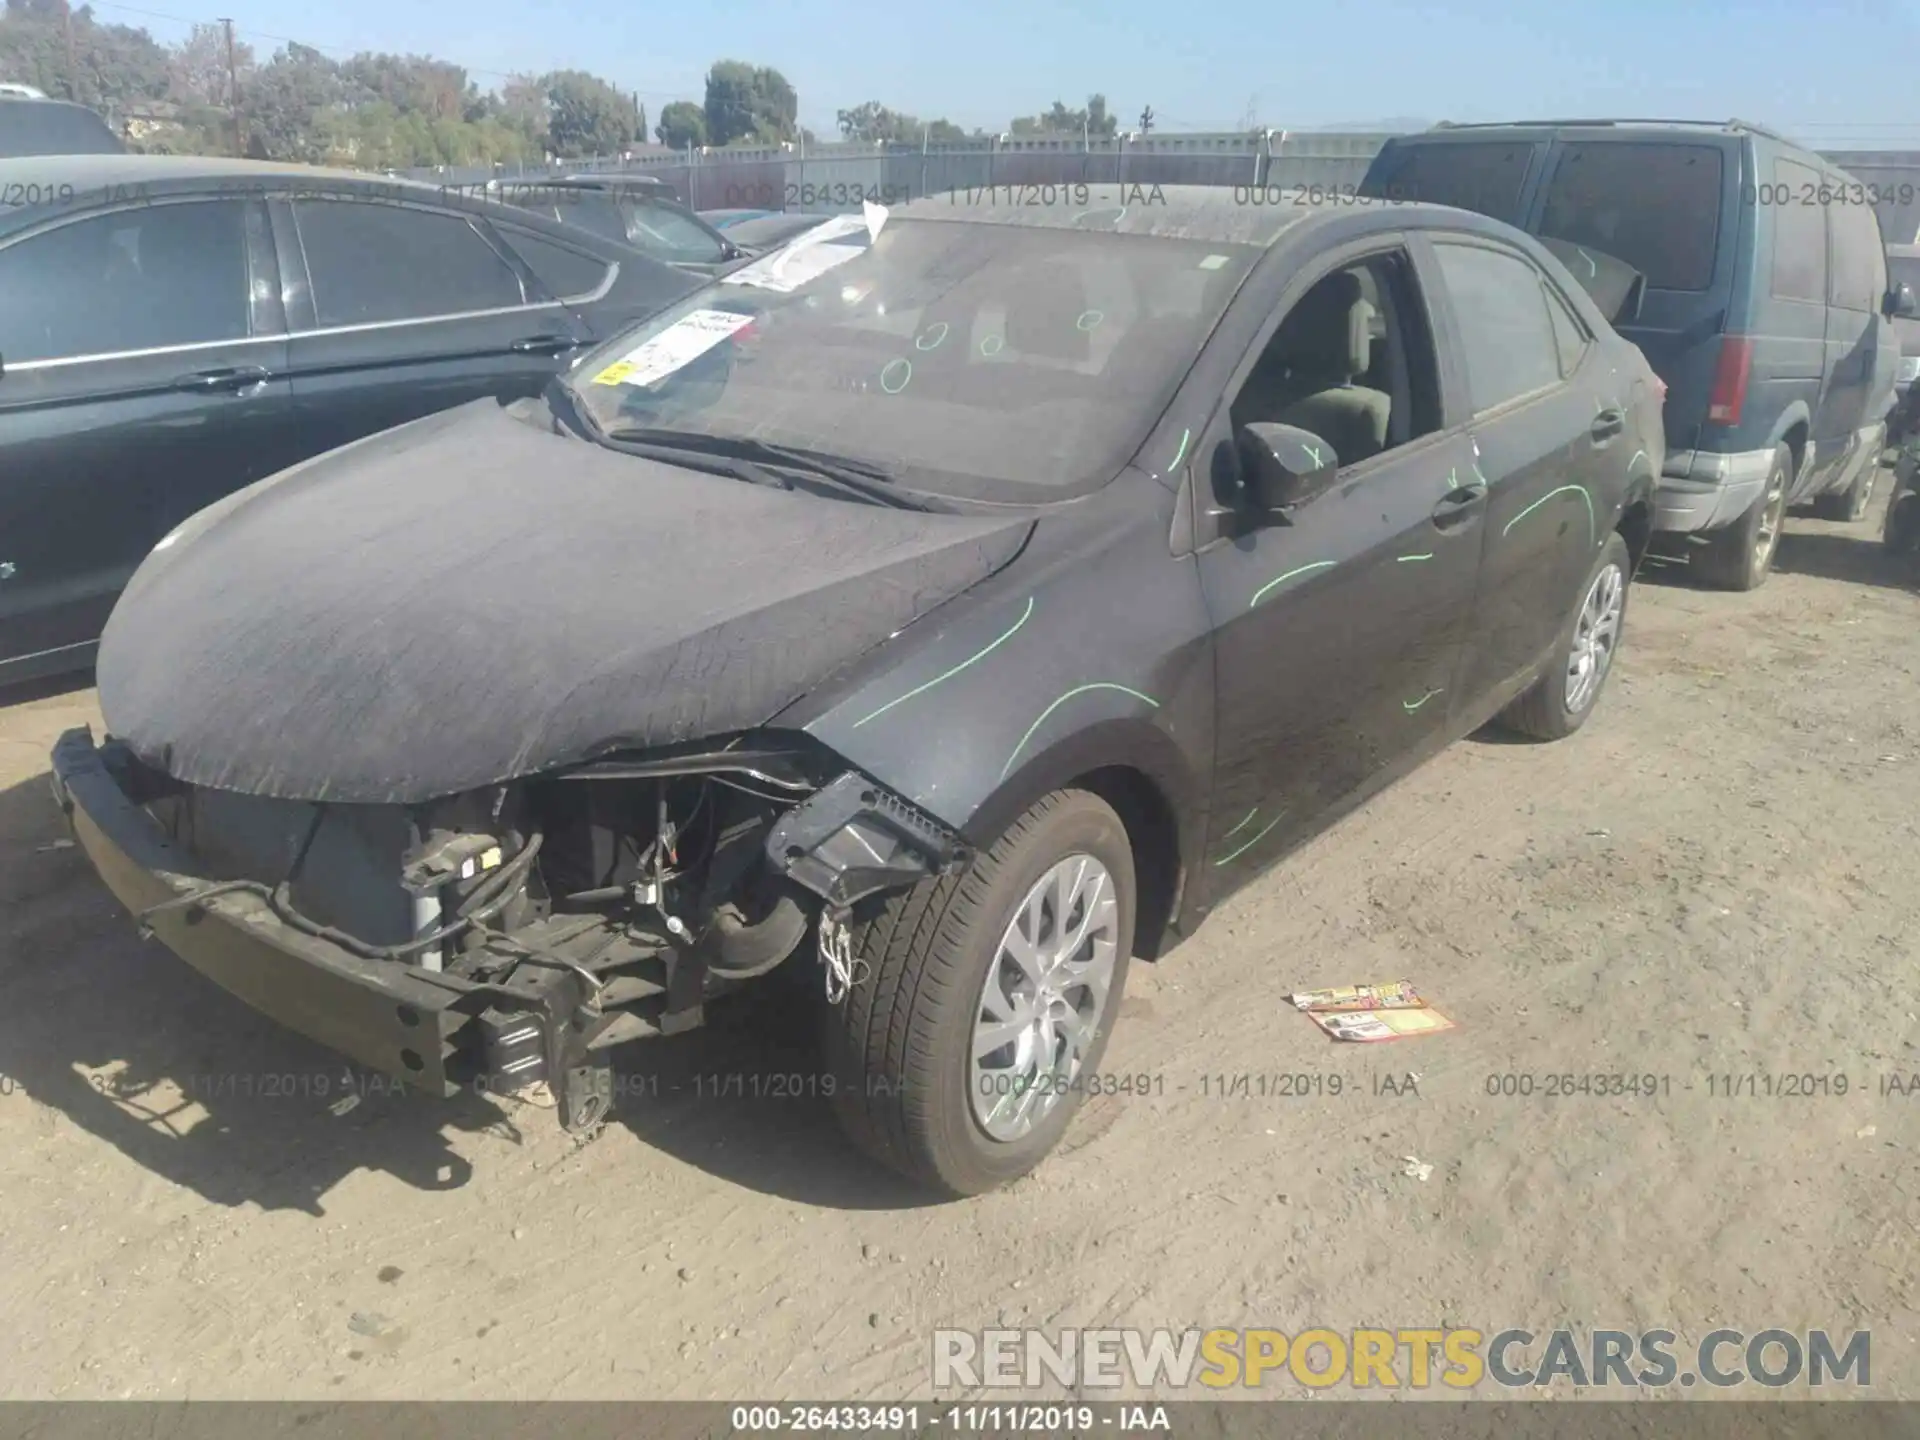
[[[1290,284],[1275,328],[1313,282],[1352,267],[1371,276],[1373,344],[1386,346],[1367,376],[1390,396],[1386,449],[1342,465],[1332,490],[1267,524],[1233,511],[1227,407],[1196,453],[1196,492],[1212,478],[1217,501],[1200,516],[1198,555],[1219,697],[1206,851],[1215,893],[1452,735],[1484,495],[1465,430],[1446,424],[1436,330],[1405,242],[1375,242]],[[1242,361],[1235,392],[1271,336]]]

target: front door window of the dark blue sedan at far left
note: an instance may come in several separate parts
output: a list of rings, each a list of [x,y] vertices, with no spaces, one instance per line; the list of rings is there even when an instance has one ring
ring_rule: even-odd
[[[42,230],[0,250],[0,355],[23,363],[244,340],[246,257],[236,200],[142,205]]]

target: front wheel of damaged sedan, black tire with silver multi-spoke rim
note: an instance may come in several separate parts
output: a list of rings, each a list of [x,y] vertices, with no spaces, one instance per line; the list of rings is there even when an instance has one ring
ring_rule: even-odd
[[[854,1144],[948,1196],[1039,1165],[1106,1052],[1135,899],[1125,826],[1069,789],[856,924],[856,983],[824,1046]]]

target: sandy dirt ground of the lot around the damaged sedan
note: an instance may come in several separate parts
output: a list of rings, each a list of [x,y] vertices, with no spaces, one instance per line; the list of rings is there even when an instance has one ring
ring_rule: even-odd
[[[1025,1323],[1870,1329],[1874,1394],[1920,1396],[1920,1094],[1882,1092],[1920,1073],[1920,570],[1878,518],[1791,522],[1755,595],[1655,564],[1576,739],[1455,745],[1137,966],[1106,1068],[1152,1092],[966,1204],[768,1098],[816,1062],[758,1008],[626,1050],[582,1148],[478,1096],[336,1114],[338,1060],[61,847],[92,691],[13,703],[0,1392],[902,1400],[935,1327]],[[1457,1029],[1336,1046],[1283,1002],[1402,977]],[[1559,1071],[1663,1079],[1488,1092]]]

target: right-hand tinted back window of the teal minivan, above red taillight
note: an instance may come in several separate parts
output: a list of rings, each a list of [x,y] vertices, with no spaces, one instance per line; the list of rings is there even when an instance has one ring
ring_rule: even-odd
[[[1540,234],[1603,250],[1651,290],[1705,290],[1722,194],[1716,146],[1572,142],[1548,180]]]

